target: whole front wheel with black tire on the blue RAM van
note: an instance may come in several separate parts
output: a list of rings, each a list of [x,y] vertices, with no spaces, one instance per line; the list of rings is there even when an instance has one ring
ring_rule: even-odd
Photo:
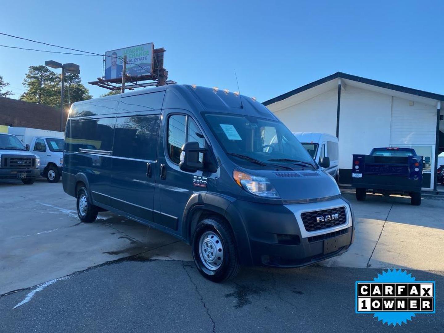
[[[215,238],[213,238],[212,235],[215,236]],[[194,231],[192,243],[194,263],[199,273],[213,282],[227,281],[235,277],[240,268],[235,244],[233,231],[222,218],[212,216],[200,221]],[[210,252],[207,254],[209,258],[210,255],[214,258],[213,263],[209,261],[204,262],[201,258],[200,251],[204,254],[203,251],[206,250],[204,249],[205,246],[208,246],[207,249],[209,251],[214,250],[214,253],[216,253],[214,256],[212,255],[213,253]],[[210,250],[210,247],[212,250]],[[222,251],[220,251],[221,249]],[[218,256],[219,252],[217,251],[222,253],[222,258]],[[212,258],[210,258],[210,260]],[[210,266],[211,269],[209,269],[208,266]]]

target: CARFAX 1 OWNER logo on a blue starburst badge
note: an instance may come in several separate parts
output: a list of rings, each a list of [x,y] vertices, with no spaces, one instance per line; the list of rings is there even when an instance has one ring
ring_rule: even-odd
[[[435,281],[416,281],[407,271],[388,270],[373,281],[356,281],[355,311],[383,324],[407,324],[417,313],[435,313]]]

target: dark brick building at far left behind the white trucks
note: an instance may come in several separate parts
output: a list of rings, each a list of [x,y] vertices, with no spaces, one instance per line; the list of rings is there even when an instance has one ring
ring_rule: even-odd
[[[67,114],[63,119],[63,131]],[[47,105],[0,97],[0,125],[60,131],[60,110]]]

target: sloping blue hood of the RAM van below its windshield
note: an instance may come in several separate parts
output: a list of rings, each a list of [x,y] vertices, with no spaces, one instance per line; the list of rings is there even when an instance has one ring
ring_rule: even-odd
[[[312,202],[341,194],[337,182],[324,170],[251,170],[266,177],[286,203]]]

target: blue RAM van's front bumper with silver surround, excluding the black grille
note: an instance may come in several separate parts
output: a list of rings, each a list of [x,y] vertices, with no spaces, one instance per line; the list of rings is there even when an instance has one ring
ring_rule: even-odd
[[[295,205],[264,205],[238,200],[234,205],[246,226],[250,261],[254,266],[308,266],[344,253],[353,243],[353,213],[349,204],[342,199]],[[329,209],[338,205],[347,210],[347,221],[344,224],[314,232],[305,230],[300,212]],[[325,251],[326,241],[335,244],[332,252]],[[241,262],[248,260],[241,258]]]

